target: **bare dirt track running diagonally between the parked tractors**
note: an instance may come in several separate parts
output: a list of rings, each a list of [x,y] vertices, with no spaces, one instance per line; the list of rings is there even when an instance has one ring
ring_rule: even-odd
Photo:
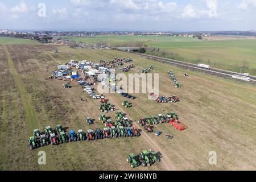
[[[109,94],[108,97],[110,98],[110,101],[115,105],[115,110],[121,110],[122,113],[126,113],[127,115],[129,115],[127,111],[123,110],[123,108],[119,104],[117,104],[117,102],[115,101],[115,98],[113,98],[111,94]],[[148,146],[153,148],[155,151],[159,151],[162,154],[163,157],[160,163],[163,164],[164,169],[166,169],[167,171],[174,171],[175,170],[174,164],[172,164],[172,161],[170,158],[168,158],[168,156],[166,155],[166,152],[164,152],[162,148],[142,130],[141,126],[139,126],[137,122],[134,121],[133,125],[136,126],[137,129],[141,129],[141,137],[144,138],[144,140],[148,143]]]

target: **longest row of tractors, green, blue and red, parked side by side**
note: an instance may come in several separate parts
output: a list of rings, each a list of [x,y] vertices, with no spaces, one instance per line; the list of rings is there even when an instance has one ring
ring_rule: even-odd
[[[97,140],[104,138],[117,138],[117,137],[139,137],[140,133],[135,127],[123,127],[119,126],[116,128],[105,127],[101,129],[89,129],[86,132],[78,130],[69,130],[68,133],[65,132],[61,125],[56,125],[53,130],[52,127],[47,126],[44,132],[41,133],[40,129],[35,129],[33,131],[33,136],[28,139],[28,146],[30,149],[35,149],[38,147],[46,146],[48,144],[57,145],[68,142],[75,142],[79,140]]]

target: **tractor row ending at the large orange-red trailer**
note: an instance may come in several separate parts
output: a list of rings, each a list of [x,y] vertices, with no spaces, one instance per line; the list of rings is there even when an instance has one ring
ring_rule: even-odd
[[[186,126],[178,121],[178,116],[176,113],[171,111],[170,113],[167,114],[158,114],[158,115],[152,115],[146,116],[145,118],[139,118],[139,125],[143,126],[144,129],[147,132],[152,132],[152,126],[151,125],[157,125],[158,123],[167,123],[169,122],[175,129],[177,130],[184,130]]]

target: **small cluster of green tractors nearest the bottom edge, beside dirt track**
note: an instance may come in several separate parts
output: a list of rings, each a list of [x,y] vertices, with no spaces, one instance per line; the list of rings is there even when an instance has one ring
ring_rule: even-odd
[[[149,148],[148,150],[142,150],[138,155],[130,153],[126,161],[130,164],[131,168],[135,168],[140,165],[144,167],[151,166],[156,162],[160,162],[160,158],[159,152],[155,152]]]

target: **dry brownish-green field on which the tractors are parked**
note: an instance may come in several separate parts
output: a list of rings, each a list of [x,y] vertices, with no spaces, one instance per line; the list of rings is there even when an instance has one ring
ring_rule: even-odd
[[[57,53],[52,53],[57,49]],[[98,121],[100,102],[82,92],[72,81],[72,88],[64,89],[64,81],[46,80],[49,71],[59,63],[71,59],[112,60],[132,57],[135,68],[154,65],[152,73],[159,73],[159,94],[177,95],[176,104],[148,100],[148,94],[133,94],[133,105],[121,105],[123,97],[117,93],[105,94],[116,109],[126,113],[134,125],[142,130],[140,137],[112,138],[80,141],[44,146],[35,150],[28,147],[32,130],[55,127],[58,123],[67,130],[102,129]],[[192,72],[170,64],[148,60],[127,52],[100,49],[74,49],[51,45],[0,46],[0,170],[131,170],[126,162],[130,152],[153,148],[163,155],[159,163],[135,170],[254,170],[255,169],[255,118],[256,87],[204,73]],[[183,85],[175,88],[167,71],[173,70]],[[184,72],[189,77],[184,77]],[[97,85],[95,86],[97,88]],[[81,102],[81,97],[87,102]],[[138,119],[175,111],[186,126],[175,130],[169,123],[154,125],[162,130],[156,137],[138,126]],[[106,113],[114,118],[114,112]],[[90,116],[93,125],[85,118]],[[166,139],[170,133],[174,139]],[[46,165],[38,164],[38,152],[46,152]],[[217,152],[217,164],[209,164],[209,152]]]

